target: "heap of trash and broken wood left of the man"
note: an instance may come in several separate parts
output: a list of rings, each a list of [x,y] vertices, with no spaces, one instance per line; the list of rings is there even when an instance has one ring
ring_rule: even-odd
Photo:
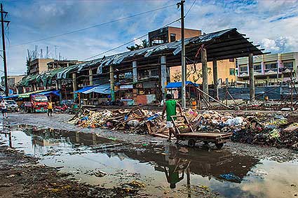
[[[117,109],[114,111],[85,111],[75,115],[69,123],[79,127],[123,130],[136,134],[156,134],[164,132],[165,123],[161,122],[161,113],[141,108]]]

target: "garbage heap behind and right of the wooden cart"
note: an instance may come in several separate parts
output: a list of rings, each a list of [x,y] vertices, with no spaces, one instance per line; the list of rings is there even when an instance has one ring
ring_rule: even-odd
[[[232,132],[232,141],[298,150],[298,123],[282,115],[234,116],[217,111],[188,111],[185,113],[196,132]]]

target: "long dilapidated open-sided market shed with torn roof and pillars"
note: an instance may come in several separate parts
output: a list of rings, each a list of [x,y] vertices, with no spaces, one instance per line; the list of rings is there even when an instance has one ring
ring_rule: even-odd
[[[263,55],[262,50],[240,34],[237,29],[225,29],[185,39],[186,56],[197,64],[202,62],[202,90],[208,93],[208,66],[212,62],[214,96],[218,98],[217,62],[222,59],[250,57],[253,71],[253,55]],[[27,76],[19,83],[24,92],[28,86],[39,83],[47,89],[60,90],[62,99],[88,94],[95,99],[122,100],[128,105],[152,104],[161,101],[170,82],[170,67],[181,65],[181,41],[163,43],[116,55],[104,56],[81,64]],[[250,98],[255,97],[254,72],[250,74]],[[81,92],[92,87],[94,92]],[[97,87],[96,89],[93,87]],[[104,88],[106,87],[106,88]],[[37,90],[32,87],[31,90]],[[97,91],[95,91],[97,90]],[[84,90],[86,91],[86,90]],[[79,94],[82,97],[82,94]],[[97,101],[97,104],[100,100]]]

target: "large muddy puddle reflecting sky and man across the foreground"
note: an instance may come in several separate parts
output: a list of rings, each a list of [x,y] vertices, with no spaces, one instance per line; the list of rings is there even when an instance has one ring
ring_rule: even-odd
[[[1,127],[1,126],[0,126]],[[97,134],[11,126],[1,129],[1,144],[69,178],[112,188],[144,184],[149,197],[295,197],[298,163],[257,160],[226,150],[123,143]]]

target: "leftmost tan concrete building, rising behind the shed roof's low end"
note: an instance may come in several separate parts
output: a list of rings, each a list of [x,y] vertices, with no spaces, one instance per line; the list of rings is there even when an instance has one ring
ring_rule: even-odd
[[[54,59],[34,59],[27,62],[27,75],[36,75],[43,71],[48,71],[48,62],[53,62]]]

